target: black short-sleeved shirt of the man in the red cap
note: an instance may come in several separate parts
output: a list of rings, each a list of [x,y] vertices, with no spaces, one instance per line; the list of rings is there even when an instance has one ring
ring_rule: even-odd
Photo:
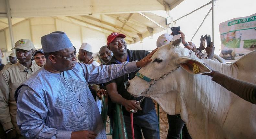
[[[127,49],[127,52],[128,52],[128,55],[129,55],[129,62],[135,61],[135,60],[141,60],[146,55],[149,54],[149,52],[144,51],[144,50],[136,50],[136,51],[132,50],[132,51],[130,51],[130,50]],[[113,56],[112,59],[108,63],[106,63],[106,65],[110,65],[110,64],[117,64],[115,56]],[[135,74],[138,71],[139,71],[139,69],[137,71],[135,71],[135,72],[130,73],[129,74],[129,80],[133,79],[135,77]],[[143,98],[143,96],[135,98],[130,93],[128,93],[127,90],[124,87],[124,82],[125,81],[128,81],[128,74],[125,74],[124,76],[121,76],[121,77],[118,77],[116,79],[113,79],[110,82],[106,83],[106,85],[108,85],[108,84],[110,84],[112,82],[115,82],[116,85],[117,85],[117,91],[118,91],[118,93],[123,98],[125,98],[127,100],[137,100],[137,101],[140,101]],[[138,110],[134,114],[134,116],[144,115],[144,114],[148,113],[149,111],[151,111],[152,109],[155,108],[154,103],[153,103],[152,99],[150,99],[150,98],[145,98],[141,102],[140,106],[141,106],[142,110]],[[110,108],[110,109],[112,109],[112,108]],[[124,115],[130,115],[130,113],[126,111],[125,107],[123,107],[122,109],[123,109],[123,114]]]

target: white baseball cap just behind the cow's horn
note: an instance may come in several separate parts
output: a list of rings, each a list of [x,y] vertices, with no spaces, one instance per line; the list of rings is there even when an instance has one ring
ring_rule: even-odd
[[[178,38],[181,37],[181,34],[177,34],[177,35],[170,35],[170,34],[167,34],[167,33],[164,33],[162,35],[160,35],[157,39],[157,47],[160,47],[162,45],[166,45],[166,44],[169,44],[171,41],[174,41]]]

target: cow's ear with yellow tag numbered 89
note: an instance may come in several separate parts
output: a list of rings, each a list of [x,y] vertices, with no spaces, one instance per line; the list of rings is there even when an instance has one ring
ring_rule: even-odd
[[[178,64],[190,74],[202,74],[212,72],[207,66],[203,63],[192,59],[190,57],[180,57],[178,59]]]

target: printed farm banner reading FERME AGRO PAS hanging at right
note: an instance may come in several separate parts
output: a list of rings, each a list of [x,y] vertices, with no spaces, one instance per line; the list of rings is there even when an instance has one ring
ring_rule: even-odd
[[[220,56],[225,60],[237,60],[256,50],[256,13],[220,23],[219,30]]]

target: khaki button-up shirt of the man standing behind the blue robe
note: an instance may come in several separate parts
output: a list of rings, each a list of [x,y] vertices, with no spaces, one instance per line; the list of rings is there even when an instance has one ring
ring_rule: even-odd
[[[35,73],[40,67],[32,64],[28,68],[29,72],[25,72],[25,66],[19,62],[5,68],[0,72],[0,121],[4,130],[15,128],[20,134],[20,130],[16,122],[17,106],[14,99],[14,93],[19,85],[25,81],[30,75]]]

